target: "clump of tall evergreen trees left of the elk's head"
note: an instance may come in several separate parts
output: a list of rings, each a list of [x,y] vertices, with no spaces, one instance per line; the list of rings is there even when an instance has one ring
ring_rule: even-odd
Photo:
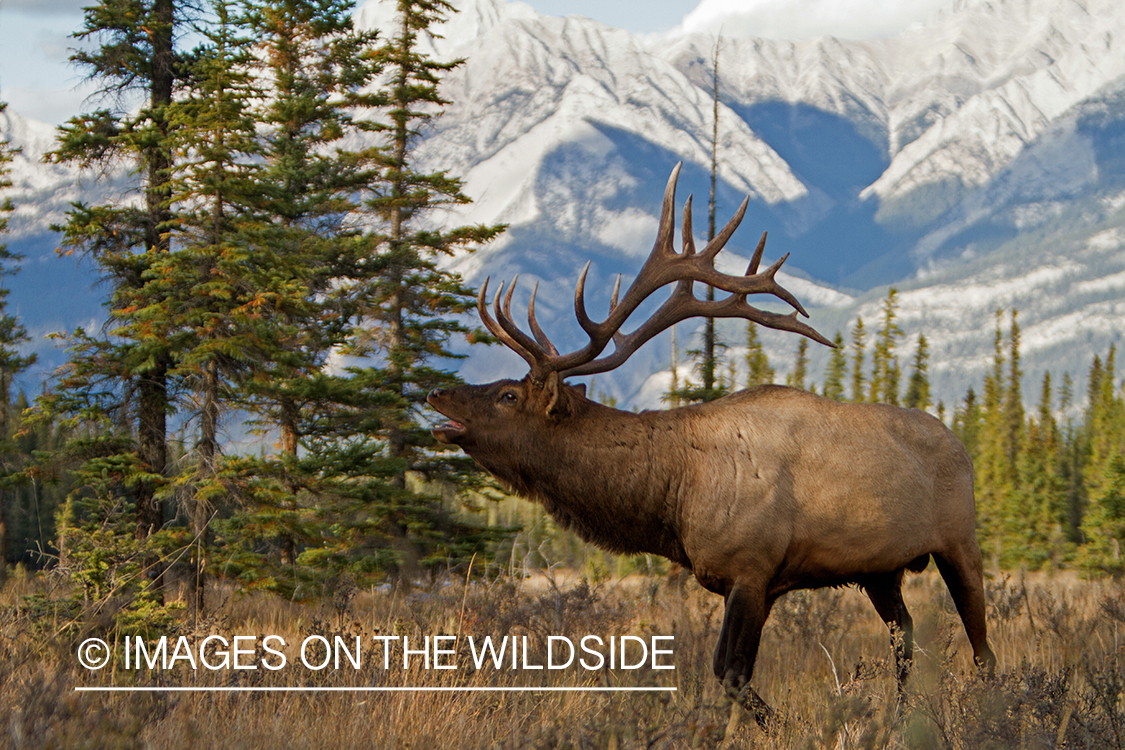
[[[475,295],[440,261],[502,231],[435,229],[468,198],[414,166],[459,64],[417,40],[451,7],[402,2],[381,40],[342,0],[215,0],[192,6],[189,54],[172,49],[182,10],[105,0],[78,35],[105,90],[150,99],[74,118],[53,155],[133,161],[146,198],[78,205],[60,227],[111,287],[107,331],[69,336],[37,405],[70,435],[38,468],[72,487],[64,569],[143,618],[169,571],[200,613],[205,576],[310,596],[492,553],[512,530],[465,519],[482,478],[421,418],[425,392],[456,382],[435,362],[475,333],[459,319]],[[363,133],[382,145],[344,145]],[[174,457],[169,424],[188,445]],[[259,454],[224,426],[252,430]]]

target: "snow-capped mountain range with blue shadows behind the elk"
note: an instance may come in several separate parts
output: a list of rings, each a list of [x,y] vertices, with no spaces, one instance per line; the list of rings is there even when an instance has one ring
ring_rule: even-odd
[[[716,38],[641,38],[503,0],[456,4],[428,44],[466,63],[447,78],[453,103],[418,154],[462,177],[475,200],[448,220],[510,229],[454,265],[475,284],[490,275],[493,288],[515,272],[524,290],[540,281],[541,319],[577,346],[578,269],[593,260],[587,299],[606,304],[614,274],[628,280],[651,247],[677,161],[681,205],[693,192],[696,232],[705,226]],[[357,21],[390,29],[392,6],[368,0]],[[957,0],[882,39],[723,36],[719,222],[744,196],[750,208],[721,268],[740,272],[770,231],[767,257],[792,252],[785,283],[829,336],[856,315],[875,325],[886,286],[898,286],[899,355],[925,329],[947,405],[979,382],[997,307],[1020,310],[1029,377],[1050,365],[1082,380],[1125,329],[1123,45],[1125,7],[1108,0]],[[6,127],[25,146],[50,138]],[[35,148],[46,146],[26,154]],[[45,257],[46,226],[91,186],[30,160],[16,177],[12,198],[29,207],[12,236],[27,268],[27,247]],[[737,355],[741,333],[724,331]],[[682,351],[687,337],[685,324]],[[765,341],[790,367],[794,337]],[[596,389],[656,405],[668,362],[665,336]],[[471,380],[521,372],[495,350],[464,367]]]

